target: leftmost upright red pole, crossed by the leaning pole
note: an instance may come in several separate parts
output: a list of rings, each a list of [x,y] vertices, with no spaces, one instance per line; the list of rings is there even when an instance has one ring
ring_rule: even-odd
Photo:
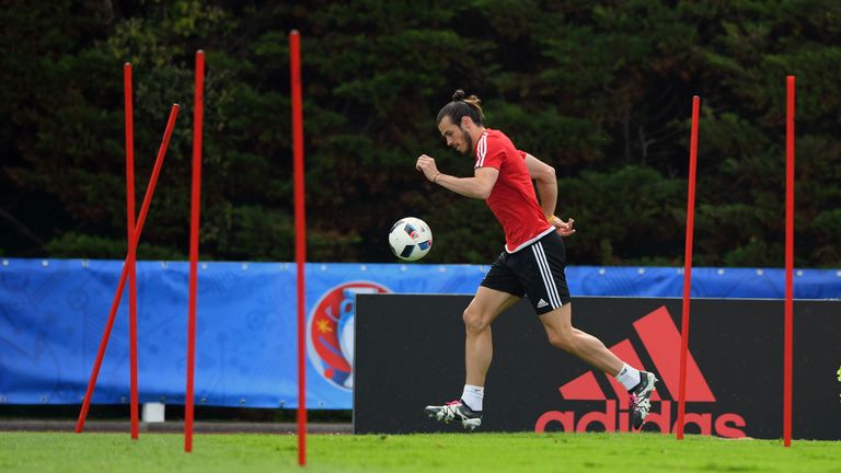
[[[131,65],[123,65],[124,95],[126,109],[126,219],[128,230],[128,351],[129,376],[131,379],[131,438],[139,437],[137,393],[137,241],[135,240],[135,119],[131,90]]]

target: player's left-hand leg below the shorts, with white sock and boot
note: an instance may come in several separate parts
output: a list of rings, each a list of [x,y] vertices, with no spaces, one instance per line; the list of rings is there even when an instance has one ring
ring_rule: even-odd
[[[459,419],[464,428],[474,429],[482,424],[482,397],[485,377],[494,357],[491,324],[520,298],[508,292],[480,286],[475,297],[464,310],[464,391],[461,399],[442,406],[426,406],[426,413],[449,423]]]

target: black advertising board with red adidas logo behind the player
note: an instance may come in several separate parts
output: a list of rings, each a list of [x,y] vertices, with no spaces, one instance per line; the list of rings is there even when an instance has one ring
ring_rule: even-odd
[[[459,431],[426,405],[457,400],[464,384],[470,297],[359,296],[357,432]],[[793,436],[841,439],[841,305],[795,301]],[[671,432],[678,416],[680,299],[575,298],[573,324],[625,362],[660,380],[645,430]],[[783,302],[692,301],[687,364],[688,434],[781,438]],[[548,342],[520,301],[493,324],[494,359],[482,431],[627,431],[629,396],[612,377]]]

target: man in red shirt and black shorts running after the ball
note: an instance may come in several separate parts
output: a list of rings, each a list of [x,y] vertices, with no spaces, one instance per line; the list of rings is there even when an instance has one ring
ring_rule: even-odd
[[[482,424],[485,376],[493,357],[491,324],[506,309],[528,296],[549,336],[549,342],[622,383],[631,397],[631,424],[642,427],[650,407],[657,378],[619,359],[598,338],[572,325],[572,299],[564,268],[562,236],[575,233],[574,220],[555,217],[557,181],[554,169],[531,154],[518,151],[502,131],[485,128],[481,102],[456,91],[452,102],[438,113],[438,130],[447,146],[475,158],[473,177],[456,177],[438,171],[435,159],[423,154],[416,169],[426,178],[465,197],[481,198],[505,230],[505,251],[492,265],[476,295],[464,310],[465,383],[461,399],[427,406],[438,420],[458,419],[464,428]],[[540,203],[534,184],[540,193]]]

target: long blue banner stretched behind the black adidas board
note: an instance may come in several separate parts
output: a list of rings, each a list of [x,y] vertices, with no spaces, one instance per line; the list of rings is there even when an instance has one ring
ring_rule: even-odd
[[[122,270],[119,261],[2,261],[0,403],[81,402]],[[307,264],[307,406],[352,407],[355,293],[473,293],[486,270]],[[188,274],[186,262],[138,263],[140,402],[184,403]],[[681,297],[683,287],[682,269],[665,267],[576,266],[567,279],[573,297]],[[692,296],[780,299],[784,281],[782,269],[694,268]],[[199,264],[196,405],[297,407],[296,295],[295,264]],[[795,298],[841,298],[841,272],[797,270]],[[94,403],[128,402],[127,308],[126,290]]]

